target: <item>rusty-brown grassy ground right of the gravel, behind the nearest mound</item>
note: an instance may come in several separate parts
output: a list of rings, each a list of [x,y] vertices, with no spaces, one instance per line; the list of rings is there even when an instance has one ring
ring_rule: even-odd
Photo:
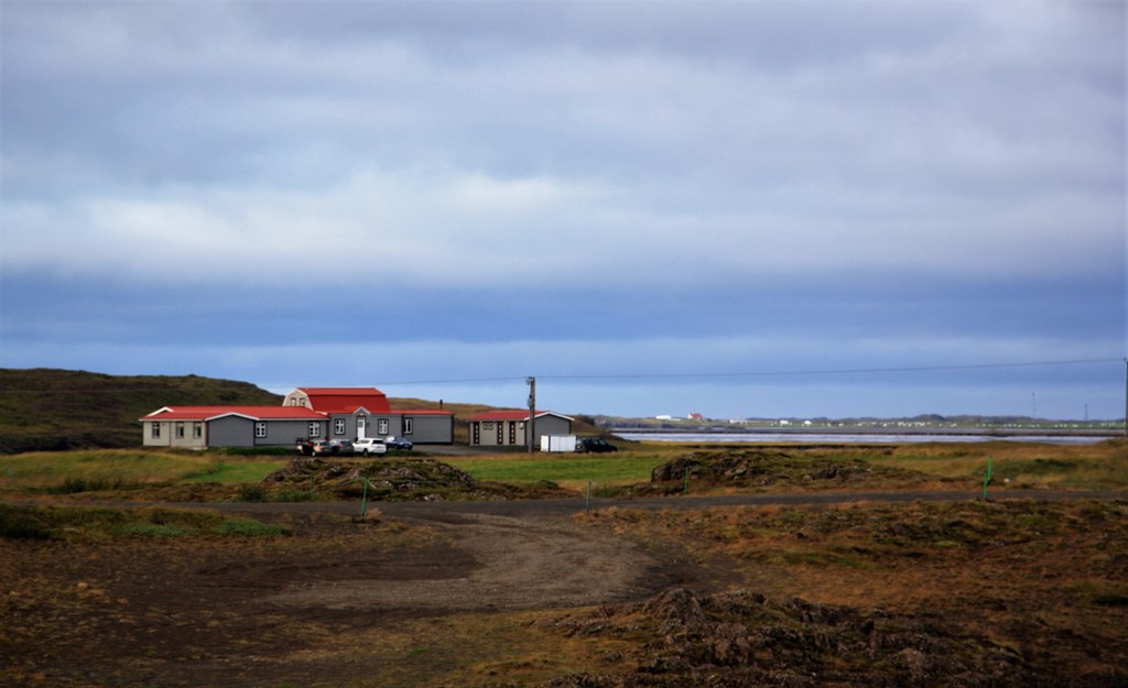
[[[589,527],[738,563],[769,597],[940,616],[1040,671],[1128,665],[1128,503],[606,511]]]

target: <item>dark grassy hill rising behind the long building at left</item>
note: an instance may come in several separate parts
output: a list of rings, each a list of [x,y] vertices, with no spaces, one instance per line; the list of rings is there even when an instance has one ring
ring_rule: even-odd
[[[138,418],[168,404],[281,404],[249,382],[197,376],[108,376],[0,369],[0,453],[141,443]]]

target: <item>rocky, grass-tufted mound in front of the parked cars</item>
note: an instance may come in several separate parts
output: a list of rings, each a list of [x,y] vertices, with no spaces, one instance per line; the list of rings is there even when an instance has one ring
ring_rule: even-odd
[[[399,502],[575,496],[554,483],[530,487],[479,483],[449,464],[425,458],[355,461],[299,457],[266,476],[263,486],[347,500],[367,493],[369,500]]]

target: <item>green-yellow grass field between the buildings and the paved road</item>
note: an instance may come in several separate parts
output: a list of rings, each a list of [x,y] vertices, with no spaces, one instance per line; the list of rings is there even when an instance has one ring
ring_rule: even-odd
[[[536,485],[545,482],[575,492],[614,491],[647,484],[654,468],[703,451],[738,451],[756,446],[699,447],[640,443],[611,455],[479,455],[432,457],[468,473],[476,480]],[[1059,446],[1015,442],[928,443],[883,447],[775,446],[773,456],[812,465],[866,465],[918,471],[955,480],[966,488],[982,482],[988,462],[992,489],[1128,489],[1128,442]],[[767,456],[767,452],[765,453]],[[359,459],[358,459],[359,460]],[[768,459],[765,459],[768,460]],[[153,486],[192,486],[218,483],[259,483],[285,466],[283,456],[241,456],[209,451],[77,450],[33,452],[0,457],[0,494],[78,493],[142,489]],[[773,489],[787,489],[786,482]],[[875,488],[872,482],[866,488]],[[949,487],[953,485],[949,484]],[[891,484],[890,487],[893,487]],[[694,485],[694,492],[711,489]]]

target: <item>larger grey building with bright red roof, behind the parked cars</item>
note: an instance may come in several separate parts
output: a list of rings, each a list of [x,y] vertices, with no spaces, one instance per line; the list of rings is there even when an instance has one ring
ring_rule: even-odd
[[[396,436],[450,444],[455,415],[393,409],[374,387],[299,387],[281,406],[165,406],[140,418],[146,447],[284,447],[300,440]]]

